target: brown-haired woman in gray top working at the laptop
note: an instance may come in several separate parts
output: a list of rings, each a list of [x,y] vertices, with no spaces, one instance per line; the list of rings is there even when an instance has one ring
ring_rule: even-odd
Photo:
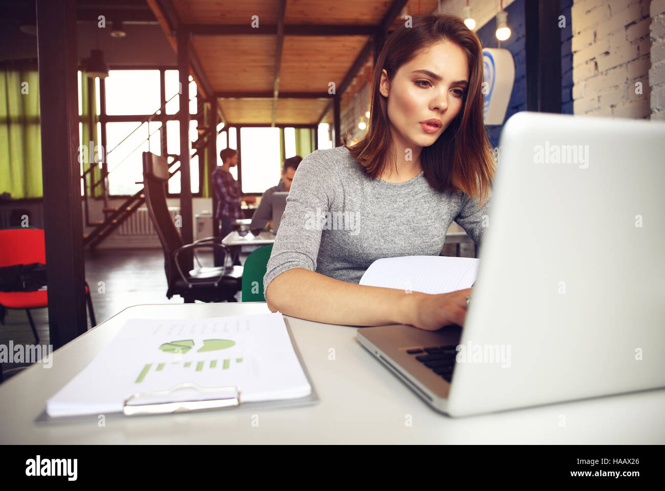
[[[358,281],[381,257],[439,255],[453,220],[479,243],[495,168],[482,82],[480,42],[459,17],[414,17],[388,37],[366,136],[298,168],[263,279],[271,311],[340,325],[464,323],[470,288],[428,295]]]

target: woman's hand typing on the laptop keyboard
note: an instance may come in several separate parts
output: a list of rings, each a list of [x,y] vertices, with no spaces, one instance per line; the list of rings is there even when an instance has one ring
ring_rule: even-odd
[[[430,295],[414,291],[409,324],[436,331],[446,325],[464,325],[466,318],[466,297],[472,288]]]

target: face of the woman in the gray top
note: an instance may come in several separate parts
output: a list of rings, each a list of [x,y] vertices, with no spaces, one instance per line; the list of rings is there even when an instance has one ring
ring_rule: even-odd
[[[432,145],[462,110],[468,82],[466,55],[450,41],[421,50],[398,69],[392,81],[384,70],[379,90],[388,98],[394,140],[404,148]],[[430,119],[439,120],[440,126],[421,124]]]

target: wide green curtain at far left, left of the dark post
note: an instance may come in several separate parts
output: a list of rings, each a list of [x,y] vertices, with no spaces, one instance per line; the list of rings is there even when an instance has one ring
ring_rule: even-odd
[[[0,65],[0,194],[41,198],[39,73],[35,61]]]

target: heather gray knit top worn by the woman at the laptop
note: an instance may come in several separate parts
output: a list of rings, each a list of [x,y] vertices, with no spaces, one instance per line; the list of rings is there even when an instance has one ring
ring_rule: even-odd
[[[372,180],[348,148],[316,150],[293,178],[264,291],[294,267],[358,283],[376,259],[440,255],[453,221],[479,244],[487,201],[479,208],[462,191],[434,190],[423,172],[406,182]]]

